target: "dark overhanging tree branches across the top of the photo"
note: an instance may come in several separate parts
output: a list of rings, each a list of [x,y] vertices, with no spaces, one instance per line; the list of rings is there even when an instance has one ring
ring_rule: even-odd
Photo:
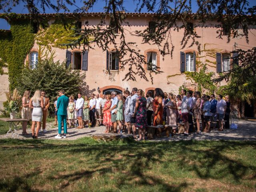
[[[40,20],[40,10],[45,12],[46,8],[52,8],[56,12],[68,12],[69,6],[76,6],[76,0],[63,0],[63,1],[28,1],[28,0],[2,0],[0,2],[0,10],[10,12],[13,6],[16,6],[20,2],[23,2],[26,8],[29,10],[32,18]],[[74,11],[74,16],[79,20],[82,14],[88,12],[94,6],[96,6],[96,0],[83,1],[84,6],[77,7]],[[228,32],[228,41],[232,37],[245,36],[248,41],[248,29],[249,26],[256,24],[255,13],[256,6],[249,7],[246,0],[198,0],[196,5],[198,10],[192,14],[191,0],[133,0],[136,4],[134,11],[141,12],[142,9],[146,9],[148,12],[153,12],[154,17],[152,21],[156,24],[155,32],[150,33],[150,29],[147,28],[143,31],[127,31],[124,30],[123,25],[129,26],[126,20],[127,12],[123,0],[103,0],[105,6],[103,7],[104,14],[101,14],[100,22],[94,27],[85,25],[83,30],[79,32],[78,40],[68,44],[70,47],[76,47],[83,45],[84,49],[94,48],[90,42],[90,37],[94,36],[94,42],[106,50],[110,44],[119,51],[120,58],[128,56],[125,60],[120,60],[122,67],[128,65],[129,72],[126,74],[126,80],[136,80],[136,75],[146,80],[146,72],[144,70],[144,64],[148,64],[143,54],[140,54],[140,50],[137,48],[136,42],[128,42],[126,40],[127,34],[138,36],[142,38],[142,42],[146,44],[154,44],[159,47],[160,53],[164,56],[173,53],[174,44],[172,44],[171,30],[180,31],[184,29],[184,37],[181,42],[181,46],[194,46],[200,50],[200,43],[197,38],[199,37],[196,32],[192,31],[189,22],[192,20],[199,21],[201,26],[208,21],[217,21],[220,27],[218,30],[218,37],[222,38],[222,32],[225,30]],[[104,4],[104,3],[102,3]],[[81,13],[81,14],[76,14]],[[62,15],[65,17],[66,15]],[[182,23],[180,25],[180,22]],[[120,34],[118,36],[115,33],[115,29],[118,29]],[[238,29],[242,29],[242,34],[238,33]],[[120,44],[118,43],[120,40]],[[188,45],[188,42],[191,44]],[[150,72],[160,73],[160,70]]]

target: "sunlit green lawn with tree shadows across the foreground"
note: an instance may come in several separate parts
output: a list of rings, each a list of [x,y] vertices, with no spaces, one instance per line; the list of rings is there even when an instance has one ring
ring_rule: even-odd
[[[0,191],[255,191],[256,142],[0,140]]]

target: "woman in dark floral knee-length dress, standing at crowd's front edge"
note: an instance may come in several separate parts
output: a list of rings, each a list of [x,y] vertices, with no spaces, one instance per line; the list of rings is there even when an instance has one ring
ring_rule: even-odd
[[[147,100],[144,96],[144,92],[139,89],[137,91],[138,94],[138,98],[136,101],[136,106],[135,106],[135,110],[134,110],[134,114],[136,115],[136,127],[139,130],[139,141],[140,140],[145,140],[145,132],[146,132],[146,126],[147,126],[147,110],[146,110],[146,106],[147,106]]]

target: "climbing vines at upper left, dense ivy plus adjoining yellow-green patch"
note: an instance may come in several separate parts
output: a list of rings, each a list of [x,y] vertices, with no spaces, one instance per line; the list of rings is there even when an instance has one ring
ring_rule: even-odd
[[[50,26],[46,20],[42,20],[39,25],[40,31],[35,34],[35,23],[30,16],[10,13],[1,14],[0,18],[8,21],[11,26],[10,31],[0,30],[0,75],[4,74],[3,67],[7,66],[10,90],[19,86],[25,58],[35,40],[40,46],[46,47],[51,52],[52,48],[65,49],[66,44],[70,44],[78,38],[76,35],[77,22],[69,19],[65,24],[56,20]]]

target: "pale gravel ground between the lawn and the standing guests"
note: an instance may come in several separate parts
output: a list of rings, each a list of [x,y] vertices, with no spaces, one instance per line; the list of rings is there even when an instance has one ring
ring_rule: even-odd
[[[53,123],[47,123],[47,132],[40,132],[39,139],[56,139],[54,136],[58,134],[58,127],[53,126]],[[89,137],[96,134],[103,134],[105,131],[104,126],[94,128],[68,128],[67,138],[65,140],[76,140],[82,137]],[[18,130],[19,139],[32,139],[31,130],[28,129],[29,135],[22,135],[22,130]],[[0,139],[5,138],[6,135],[0,135]],[[9,133],[6,138],[11,138],[12,134]],[[17,136],[15,136],[17,138]],[[64,139],[64,138],[62,138]],[[225,129],[222,132],[218,130],[212,130],[210,133],[195,134],[192,133],[189,136],[183,136],[182,134],[174,134],[173,137],[163,136],[151,141],[178,141],[178,140],[256,140],[256,121],[252,120],[239,120],[238,129]]]

